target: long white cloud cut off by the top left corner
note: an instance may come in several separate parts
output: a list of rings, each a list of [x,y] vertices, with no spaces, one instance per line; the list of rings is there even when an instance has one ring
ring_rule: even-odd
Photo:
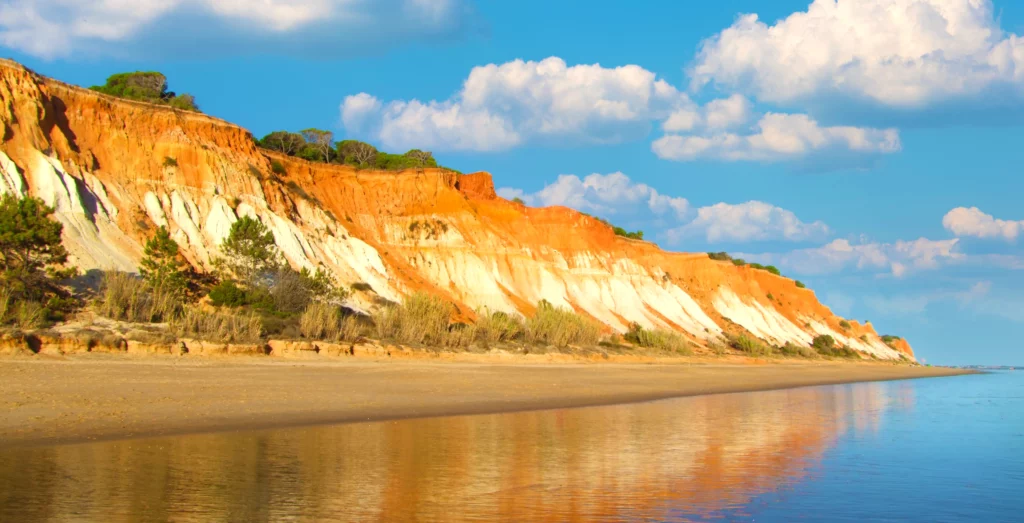
[[[452,36],[472,19],[464,0],[9,0],[0,44],[44,58],[199,49],[328,56]]]

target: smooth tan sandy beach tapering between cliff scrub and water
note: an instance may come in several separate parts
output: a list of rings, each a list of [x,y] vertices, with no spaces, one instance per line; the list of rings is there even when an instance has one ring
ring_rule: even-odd
[[[95,357],[99,356],[99,357]],[[750,364],[0,359],[0,449],[503,413],[980,374],[870,362]]]

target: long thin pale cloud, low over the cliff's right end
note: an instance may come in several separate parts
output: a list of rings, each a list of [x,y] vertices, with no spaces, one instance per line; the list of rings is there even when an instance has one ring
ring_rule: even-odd
[[[901,277],[914,270],[940,267],[943,263],[965,259],[959,241],[919,238],[881,244],[865,241],[835,239],[822,247],[800,249],[783,254],[748,254],[746,258],[786,267],[795,273],[824,274],[844,269],[876,270]]]

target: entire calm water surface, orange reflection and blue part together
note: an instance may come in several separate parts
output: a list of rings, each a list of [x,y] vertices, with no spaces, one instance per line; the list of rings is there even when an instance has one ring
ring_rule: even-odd
[[[1024,521],[1024,373],[0,450],[0,521]]]

